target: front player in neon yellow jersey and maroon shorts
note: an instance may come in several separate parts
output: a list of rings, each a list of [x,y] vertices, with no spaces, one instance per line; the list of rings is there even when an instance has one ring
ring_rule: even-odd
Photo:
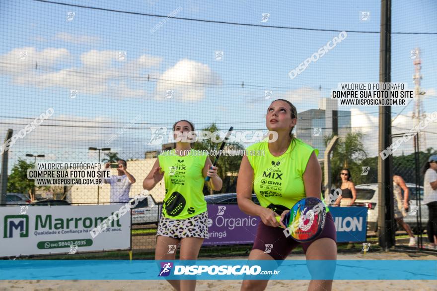
[[[299,244],[307,260],[337,259],[335,225],[327,207],[326,224],[315,239],[301,243],[283,232],[286,226],[282,220],[297,201],[305,197],[323,201],[318,150],[293,136],[296,122],[297,111],[291,102],[273,101],[267,109],[266,125],[278,133],[278,139],[267,142],[266,138],[247,147],[241,161],[238,206],[244,213],[261,218],[249,260],[284,260]],[[252,189],[261,205],[252,201]],[[265,290],[267,283],[268,280],[244,280],[241,290]],[[332,280],[311,280],[308,290],[331,290],[331,286]]]

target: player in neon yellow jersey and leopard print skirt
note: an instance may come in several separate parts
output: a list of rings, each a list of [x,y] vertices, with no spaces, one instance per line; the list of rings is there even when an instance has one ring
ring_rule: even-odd
[[[161,154],[143,181],[143,188],[151,190],[162,178],[165,197],[162,215],[156,231],[155,260],[174,260],[180,242],[179,259],[197,260],[200,247],[208,233],[207,203],[203,195],[205,178],[208,185],[220,190],[222,181],[218,167],[212,167],[208,154],[194,151],[189,133],[194,125],[179,120],[173,125],[176,148]],[[177,137],[180,135],[181,138]],[[210,169],[212,168],[212,169]],[[194,290],[196,280],[168,280],[176,290]]]

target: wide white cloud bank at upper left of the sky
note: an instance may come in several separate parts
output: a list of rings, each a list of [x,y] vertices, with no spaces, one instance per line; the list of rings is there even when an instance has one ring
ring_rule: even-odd
[[[20,59],[20,52],[27,52],[25,59]],[[38,52],[32,47],[17,48],[0,56],[0,71],[10,75],[15,84],[38,88],[60,87],[65,89],[66,96],[70,96],[70,90],[77,90],[78,96],[107,94],[116,98],[143,97],[149,94],[145,90],[135,89],[135,85],[144,82],[145,69],[156,67],[162,61],[162,58],[149,55],[131,61],[128,55],[127,60],[121,61],[118,60],[118,51],[91,50],[80,56],[81,66],[54,67],[61,61],[65,66],[65,61],[70,58],[67,49]],[[151,73],[156,77],[157,73]]]

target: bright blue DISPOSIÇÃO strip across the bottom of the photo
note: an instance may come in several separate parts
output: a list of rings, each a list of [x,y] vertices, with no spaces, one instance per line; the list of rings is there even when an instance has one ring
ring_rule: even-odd
[[[437,280],[437,260],[2,260],[0,270],[0,280]]]

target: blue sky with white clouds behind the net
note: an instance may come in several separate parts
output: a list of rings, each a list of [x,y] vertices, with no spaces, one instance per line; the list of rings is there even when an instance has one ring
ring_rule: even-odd
[[[334,3],[314,0],[252,3],[247,0],[211,1],[208,4],[200,0],[61,2],[158,15],[177,10],[176,17],[182,18],[311,29],[377,32],[380,18],[380,1],[376,0]],[[75,12],[73,21],[66,21],[67,13],[71,11]],[[369,20],[360,21],[360,11],[369,11]],[[392,32],[436,32],[436,12],[437,3],[432,0],[394,1]],[[262,13],[270,13],[267,22],[261,22]],[[126,158],[143,158],[143,153],[151,149],[145,144],[150,136],[148,126],[171,126],[178,119],[189,119],[199,129],[217,122],[223,130],[230,125],[237,130],[265,130],[264,115],[272,99],[288,98],[301,112],[318,108],[318,100],[328,97],[339,82],[378,81],[379,34],[348,33],[343,42],[291,80],[289,71],[338,32],[179,19],[169,19],[157,31],[150,32],[160,21],[163,18],[33,0],[2,1],[0,88],[5,92],[2,97],[7,110],[0,117],[1,123],[5,123],[0,124],[1,133],[4,134],[7,128],[18,131],[24,127],[21,124],[29,122],[16,117],[34,118],[49,107],[55,109],[52,119],[70,121],[44,124],[73,125],[35,129],[11,149],[15,153],[12,160],[29,151],[53,153],[54,160],[65,157],[60,154],[62,151],[74,152],[76,159],[83,159],[79,153],[86,153],[88,146],[105,147],[105,141],[119,130],[103,126],[121,128],[134,119],[142,124],[133,125],[110,146],[126,153]],[[437,110],[436,45],[436,35],[392,36],[392,82],[414,86],[410,50],[415,47],[422,50],[422,87],[432,93],[424,99],[427,112]],[[16,60],[4,69],[7,66],[4,62],[13,57],[11,52],[20,48],[34,48],[35,59],[40,61],[39,70],[17,71]],[[47,49],[50,56],[41,53]],[[127,52],[124,61],[115,56],[108,58],[118,51]],[[215,59],[215,51],[223,52],[221,60]],[[102,66],[92,62],[85,65],[84,55],[88,62],[95,56],[101,57]],[[146,56],[146,61],[140,67],[137,64],[142,56]],[[52,62],[48,61],[52,58]],[[20,65],[18,63],[18,67]],[[29,63],[29,66],[33,67],[33,64]],[[108,74],[114,77],[108,77]],[[158,81],[147,82],[147,74]],[[76,78],[77,75],[80,78]],[[216,85],[181,88],[163,82],[165,76],[177,77],[183,82]],[[50,80],[53,79],[59,82],[52,86]],[[243,81],[244,88],[239,86]],[[78,95],[70,99],[73,89],[78,90]],[[166,89],[174,89],[175,96],[164,98],[162,92]],[[272,99],[264,99],[264,90],[273,91]],[[413,105],[414,102],[402,114],[411,113]],[[402,107],[394,107],[393,117],[401,110]],[[353,126],[373,126],[372,131],[365,132],[371,136],[377,130],[377,123],[374,123],[377,111],[377,107],[360,107],[359,112],[354,112],[362,117],[364,114],[366,118],[355,119],[360,120],[358,123],[353,120]],[[138,115],[142,117],[136,119]],[[410,119],[404,117],[399,125],[411,128],[408,126]],[[364,124],[366,122],[368,124]],[[135,127],[141,128],[133,129]],[[428,137],[431,141],[433,138],[436,140],[435,135]],[[371,143],[374,140],[369,145]]]

